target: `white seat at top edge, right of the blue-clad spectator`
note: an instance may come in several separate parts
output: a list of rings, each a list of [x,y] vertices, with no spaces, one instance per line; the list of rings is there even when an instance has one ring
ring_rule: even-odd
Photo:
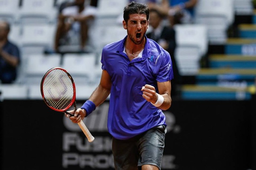
[[[207,26],[210,44],[224,44],[233,22],[233,0],[199,0],[195,7],[195,23]]]

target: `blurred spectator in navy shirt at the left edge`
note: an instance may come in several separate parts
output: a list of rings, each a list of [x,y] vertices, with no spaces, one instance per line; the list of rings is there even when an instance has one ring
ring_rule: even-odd
[[[20,50],[8,40],[10,24],[0,20],[0,82],[10,84],[16,80],[20,63]]]

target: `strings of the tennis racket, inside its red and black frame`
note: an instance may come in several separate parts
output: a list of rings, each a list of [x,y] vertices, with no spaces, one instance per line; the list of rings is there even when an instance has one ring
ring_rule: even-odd
[[[72,105],[73,82],[66,72],[55,69],[45,78],[43,92],[47,103],[55,109],[63,110]]]

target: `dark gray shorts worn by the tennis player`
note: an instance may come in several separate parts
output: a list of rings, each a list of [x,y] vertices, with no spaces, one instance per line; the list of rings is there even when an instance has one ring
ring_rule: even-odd
[[[128,140],[112,139],[116,170],[138,170],[144,164],[161,169],[166,129],[157,126]]]

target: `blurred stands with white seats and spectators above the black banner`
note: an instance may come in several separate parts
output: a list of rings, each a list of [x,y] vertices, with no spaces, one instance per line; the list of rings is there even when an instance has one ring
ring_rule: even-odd
[[[44,73],[63,67],[86,98],[99,83],[102,47],[126,35],[130,1],[0,0],[2,97],[41,98]],[[146,36],[171,54],[173,98],[247,100],[256,92],[255,0],[137,1],[150,8]]]

